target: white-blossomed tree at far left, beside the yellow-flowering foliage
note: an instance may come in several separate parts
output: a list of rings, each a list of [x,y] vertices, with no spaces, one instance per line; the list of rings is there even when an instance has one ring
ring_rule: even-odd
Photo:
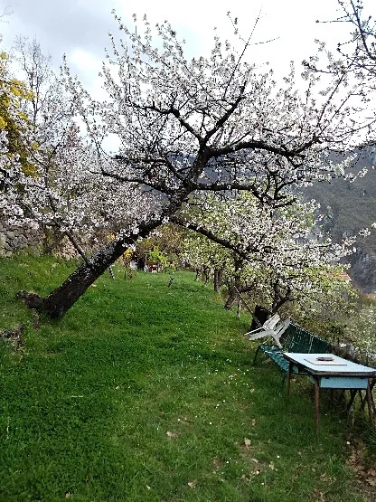
[[[88,263],[81,242],[132,218],[135,187],[110,186],[100,175],[98,156],[75,123],[71,96],[39,43],[18,39],[16,48],[8,71],[22,75],[28,90],[18,106],[27,124],[24,156],[33,170],[14,170],[15,183],[3,194],[3,217],[52,232],[57,242],[67,236]]]

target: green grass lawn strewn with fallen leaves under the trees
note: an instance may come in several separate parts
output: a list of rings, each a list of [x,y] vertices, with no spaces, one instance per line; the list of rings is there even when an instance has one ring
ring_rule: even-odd
[[[249,320],[193,274],[100,278],[59,322],[14,299],[45,294],[74,264],[0,260],[0,500],[355,501],[343,417],[308,386],[285,406],[272,365],[250,364]],[[297,387],[297,388],[294,388]],[[323,494],[323,495],[321,495]],[[324,498],[323,498],[324,497]]]

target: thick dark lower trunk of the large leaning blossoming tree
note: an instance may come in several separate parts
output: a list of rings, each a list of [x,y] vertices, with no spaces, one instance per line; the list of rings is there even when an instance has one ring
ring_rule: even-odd
[[[106,248],[95,252],[87,262],[82,263],[59,288],[54,289],[47,297],[42,298],[26,291],[20,291],[18,297],[24,299],[28,307],[35,308],[48,317],[63,317],[89,286],[108,270],[114,261],[118,260],[129,245],[134,244],[139,237],[146,237],[161,223],[158,219],[141,224],[137,233],[110,242]]]

